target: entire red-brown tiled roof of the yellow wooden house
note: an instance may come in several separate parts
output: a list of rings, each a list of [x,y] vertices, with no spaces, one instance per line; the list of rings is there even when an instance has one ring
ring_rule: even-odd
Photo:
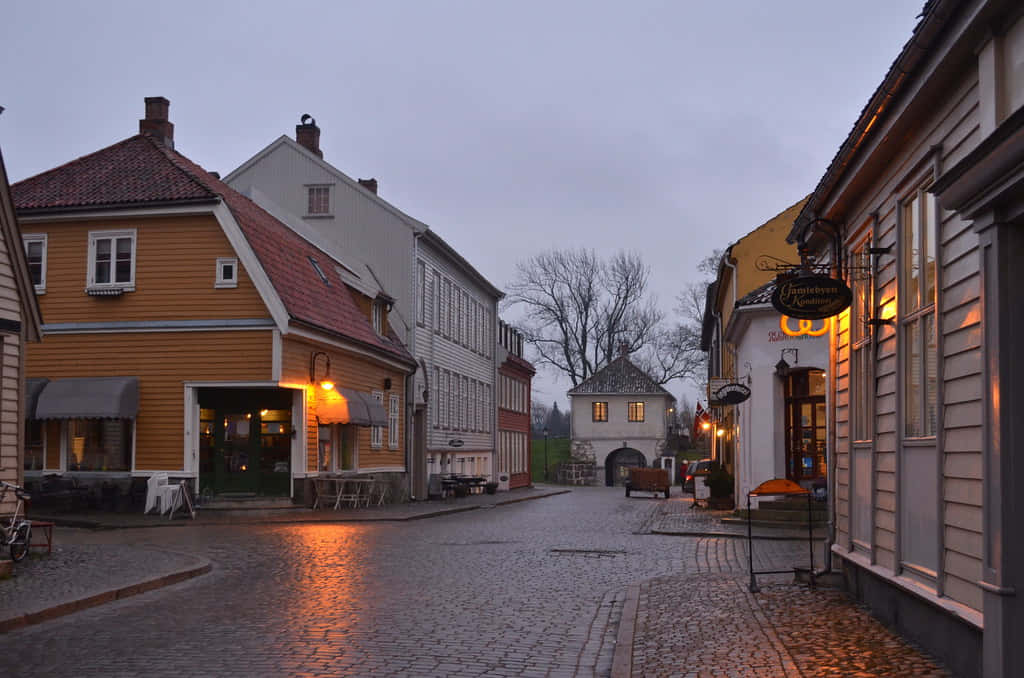
[[[132,156],[132,154],[137,154]],[[118,169],[124,163],[128,169]],[[105,184],[120,181],[120,185]],[[378,335],[356,305],[334,259],[256,203],[181,154],[145,134],[26,179],[11,187],[19,210],[223,200],[270,279],[289,315],[300,324],[381,349],[406,363],[413,356],[396,336]],[[52,202],[48,203],[47,200]],[[319,263],[325,284],[309,259]]]

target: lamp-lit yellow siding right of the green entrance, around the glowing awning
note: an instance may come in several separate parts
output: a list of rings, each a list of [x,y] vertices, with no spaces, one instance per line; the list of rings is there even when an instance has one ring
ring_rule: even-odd
[[[331,357],[331,380],[338,388],[352,388],[371,393],[384,392],[384,410],[388,410],[388,396],[398,396],[398,444],[389,447],[387,426],[384,427],[381,448],[370,447],[370,427],[359,426],[356,432],[359,468],[404,468],[406,465],[406,411],[404,377],[401,369],[362,355],[355,351],[315,343],[296,337],[285,337],[282,343],[281,383],[290,387],[302,386],[306,389],[307,446],[306,464],[309,471],[316,469],[316,399],[314,386],[310,384],[309,359],[317,351]],[[317,359],[316,378],[323,379],[326,363]],[[390,390],[384,389],[384,380],[391,380]]]

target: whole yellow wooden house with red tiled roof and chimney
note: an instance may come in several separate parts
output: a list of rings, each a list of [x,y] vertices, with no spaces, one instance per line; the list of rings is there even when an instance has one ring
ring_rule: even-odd
[[[139,134],[12,186],[46,317],[26,475],[298,498],[310,476],[372,472],[400,490],[416,366],[390,297],[176,153],[168,108],[146,98]]]

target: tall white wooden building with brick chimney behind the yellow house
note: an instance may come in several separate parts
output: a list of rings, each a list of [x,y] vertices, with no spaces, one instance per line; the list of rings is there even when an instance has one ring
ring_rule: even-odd
[[[393,295],[388,320],[419,363],[406,402],[410,496],[430,473],[490,476],[496,439],[495,361],[502,292],[429,226],[326,162],[319,128],[304,116],[225,177],[237,190]]]

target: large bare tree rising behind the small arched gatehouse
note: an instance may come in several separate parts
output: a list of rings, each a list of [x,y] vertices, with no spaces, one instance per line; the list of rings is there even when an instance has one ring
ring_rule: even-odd
[[[550,250],[516,266],[505,303],[525,306],[521,330],[536,362],[563,372],[573,386],[624,347],[658,383],[689,377],[692,341],[681,327],[666,327],[648,295],[649,276],[635,252],[602,260],[593,250]]]

